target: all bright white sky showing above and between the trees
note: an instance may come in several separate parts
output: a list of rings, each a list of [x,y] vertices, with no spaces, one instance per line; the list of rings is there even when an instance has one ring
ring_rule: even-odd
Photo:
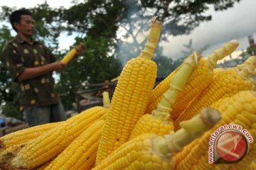
[[[0,6],[29,8],[36,6],[36,4],[42,4],[44,1],[47,1],[50,7],[53,8],[60,6],[68,8],[71,5],[71,0],[0,0]],[[216,12],[213,8],[210,8],[207,13],[212,16],[211,21],[201,23],[189,35],[170,36],[168,42],[160,42],[160,45],[164,47],[164,55],[174,59],[184,57],[181,51],[186,50],[186,47],[183,47],[183,45],[188,44],[190,39],[193,40],[193,50],[199,50],[205,45],[210,45],[203,52],[203,56],[209,55],[213,50],[225,44],[225,42],[234,39],[240,42],[238,50],[244,50],[249,46],[248,35],[253,35],[256,41],[255,6],[255,0],[241,0],[239,3],[235,3],[233,8],[225,11]],[[59,40],[60,49],[68,49],[75,42],[72,36],[68,36],[65,33],[60,35]]]

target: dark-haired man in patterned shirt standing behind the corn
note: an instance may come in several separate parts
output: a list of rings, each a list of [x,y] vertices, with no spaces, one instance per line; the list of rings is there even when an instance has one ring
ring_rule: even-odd
[[[29,11],[14,11],[10,22],[17,35],[4,48],[3,58],[11,77],[20,86],[20,105],[28,125],[65,120],[52,77],[53,71],[59,71],[65,65],[55,61],[45,45],[32,39],[34,21]],[[77,45],[75,49],[80,55],[85,47]]]

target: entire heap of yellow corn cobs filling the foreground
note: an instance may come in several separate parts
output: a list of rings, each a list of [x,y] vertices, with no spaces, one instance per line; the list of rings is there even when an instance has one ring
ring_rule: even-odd
[[[152,18],[142,53],[127,62],[110,103],[60,123],[0,137],[0,169],[255,169],[256,145],[235,164],[208,164],[210,134],[237,124],[256,139],[256,56],[216,69],[238,42],[203,58],[193,52],[154,88],[151,60],[161,22]]]

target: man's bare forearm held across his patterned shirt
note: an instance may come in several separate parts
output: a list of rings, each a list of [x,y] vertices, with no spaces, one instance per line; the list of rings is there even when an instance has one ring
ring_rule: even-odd
[[[23,72],[17,77],[18,81],[24,81],[27,79],[33,79],[39,77],[47,72],[58,71],[65,65],[61,62],[52,62],[50,64],[43,65],[41,67],[25,68]]]

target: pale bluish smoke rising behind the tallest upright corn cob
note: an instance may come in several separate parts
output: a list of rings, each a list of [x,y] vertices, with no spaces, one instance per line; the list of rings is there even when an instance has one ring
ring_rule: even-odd
[[[142,13],[138,4],[132,1],[125,1],[128,11],[127,17],[122,21],[121,26],[117,30],[117,58],[122,66],[128,60],[137,57],[144,48],[147,35],[150,28],[149,13]]]

